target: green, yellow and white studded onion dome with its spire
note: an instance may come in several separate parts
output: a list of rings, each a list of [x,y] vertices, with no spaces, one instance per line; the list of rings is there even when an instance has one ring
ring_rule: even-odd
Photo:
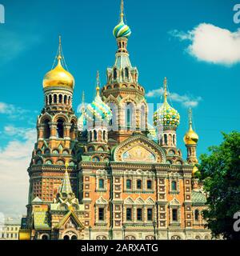
[[[167,102],[166,78],[164,80],[164,102],[154,113],[154,126],[173,126],[175,129],[180,123],[178,111]]]

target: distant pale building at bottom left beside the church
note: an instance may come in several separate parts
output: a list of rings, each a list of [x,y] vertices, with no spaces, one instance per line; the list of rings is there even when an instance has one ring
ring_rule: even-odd
[[[6,219],[0,226],[0,240],[18,240],[20,220]]]

